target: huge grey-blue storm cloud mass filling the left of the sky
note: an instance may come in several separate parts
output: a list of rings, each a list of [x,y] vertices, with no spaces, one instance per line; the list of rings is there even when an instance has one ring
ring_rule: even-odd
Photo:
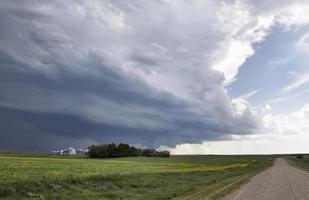
[[[0,148],[174,146],[257,127],[249,109],[235,115],[223,74],[200,66],[200,33],[171,38],[133,4],[0,3]]]

